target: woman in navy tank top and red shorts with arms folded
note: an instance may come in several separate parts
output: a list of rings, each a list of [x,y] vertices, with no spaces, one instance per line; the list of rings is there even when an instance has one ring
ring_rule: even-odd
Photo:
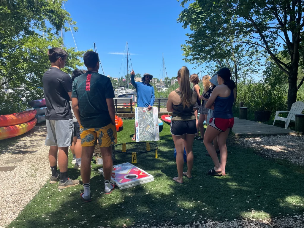
[[[204,144],[214,162],[214,168],[208,171],[208,174],[212,176],[226,175],[226,140],[229,130],[234,124],[232,106],[236,96],[235,83],[230,78],[231,72],[227,67],[217,71],[217,81],[219,85],[214,88],[212,96],[210,96],[206,103],[206,108],[213,110],[213,115],[209,120],[209,125],[204,137]],[[216,150],[211,143],[215,137],[217,137],[219,145],[220,162]]]

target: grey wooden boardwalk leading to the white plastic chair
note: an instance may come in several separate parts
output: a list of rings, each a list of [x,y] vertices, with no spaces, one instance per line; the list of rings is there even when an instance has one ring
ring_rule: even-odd
[[[295,135],[297,132],[264,123],[234,117],[232,132],[237,136],[250,135]]]

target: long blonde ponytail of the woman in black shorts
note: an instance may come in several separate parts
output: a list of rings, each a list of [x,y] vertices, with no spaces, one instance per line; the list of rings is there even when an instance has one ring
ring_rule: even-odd
[[[180,78],[179,88],[181,90],[181,102],[183,103],[184,109],[191,105],[191,88],[189,80],[190,72],[187,67],[183,66],[177,72],[177,77]]]

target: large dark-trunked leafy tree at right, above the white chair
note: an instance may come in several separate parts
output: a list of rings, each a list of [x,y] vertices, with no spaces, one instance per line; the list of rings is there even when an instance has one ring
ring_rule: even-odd
[[[220,47],[233,41],[246,44],[256,53],[262,51],[270,56],[278,68],[288,75],[288,109],[296,101],[297,91],[303,80],[297,84],[299,50],[302,51],[304,26],[304,1],[180,1],[184,7],[178,21],[183,27],[192,30],[187,34],[187,43],[192,46],[190,52],[197,53],[198,60],[217,60],[217,53],[225,54]],[[279,54],[284,47],[283,56]],[[288,61],[285,62],[283,58]],[[303,65],[302,65],[303,66]]]

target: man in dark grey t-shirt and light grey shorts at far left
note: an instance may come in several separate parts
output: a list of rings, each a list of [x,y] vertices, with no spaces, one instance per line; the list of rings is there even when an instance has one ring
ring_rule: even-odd
[[[50,146],[49,161],[52,171],[50,183],[60,180],[58,188],[67,188],[79,184],[79,181],[68,178],[67,161],[69,146],[73,140],[73,119],[70,106],[72,94],[72,79],[70,75],[60,70],[65,65],[67,52],[53,47],[47,52],[51,67],[43,74],[47,110],[45,119],[47,124],[47,138],[45,145]],[[57,172],[57,152],[60,174]]]

